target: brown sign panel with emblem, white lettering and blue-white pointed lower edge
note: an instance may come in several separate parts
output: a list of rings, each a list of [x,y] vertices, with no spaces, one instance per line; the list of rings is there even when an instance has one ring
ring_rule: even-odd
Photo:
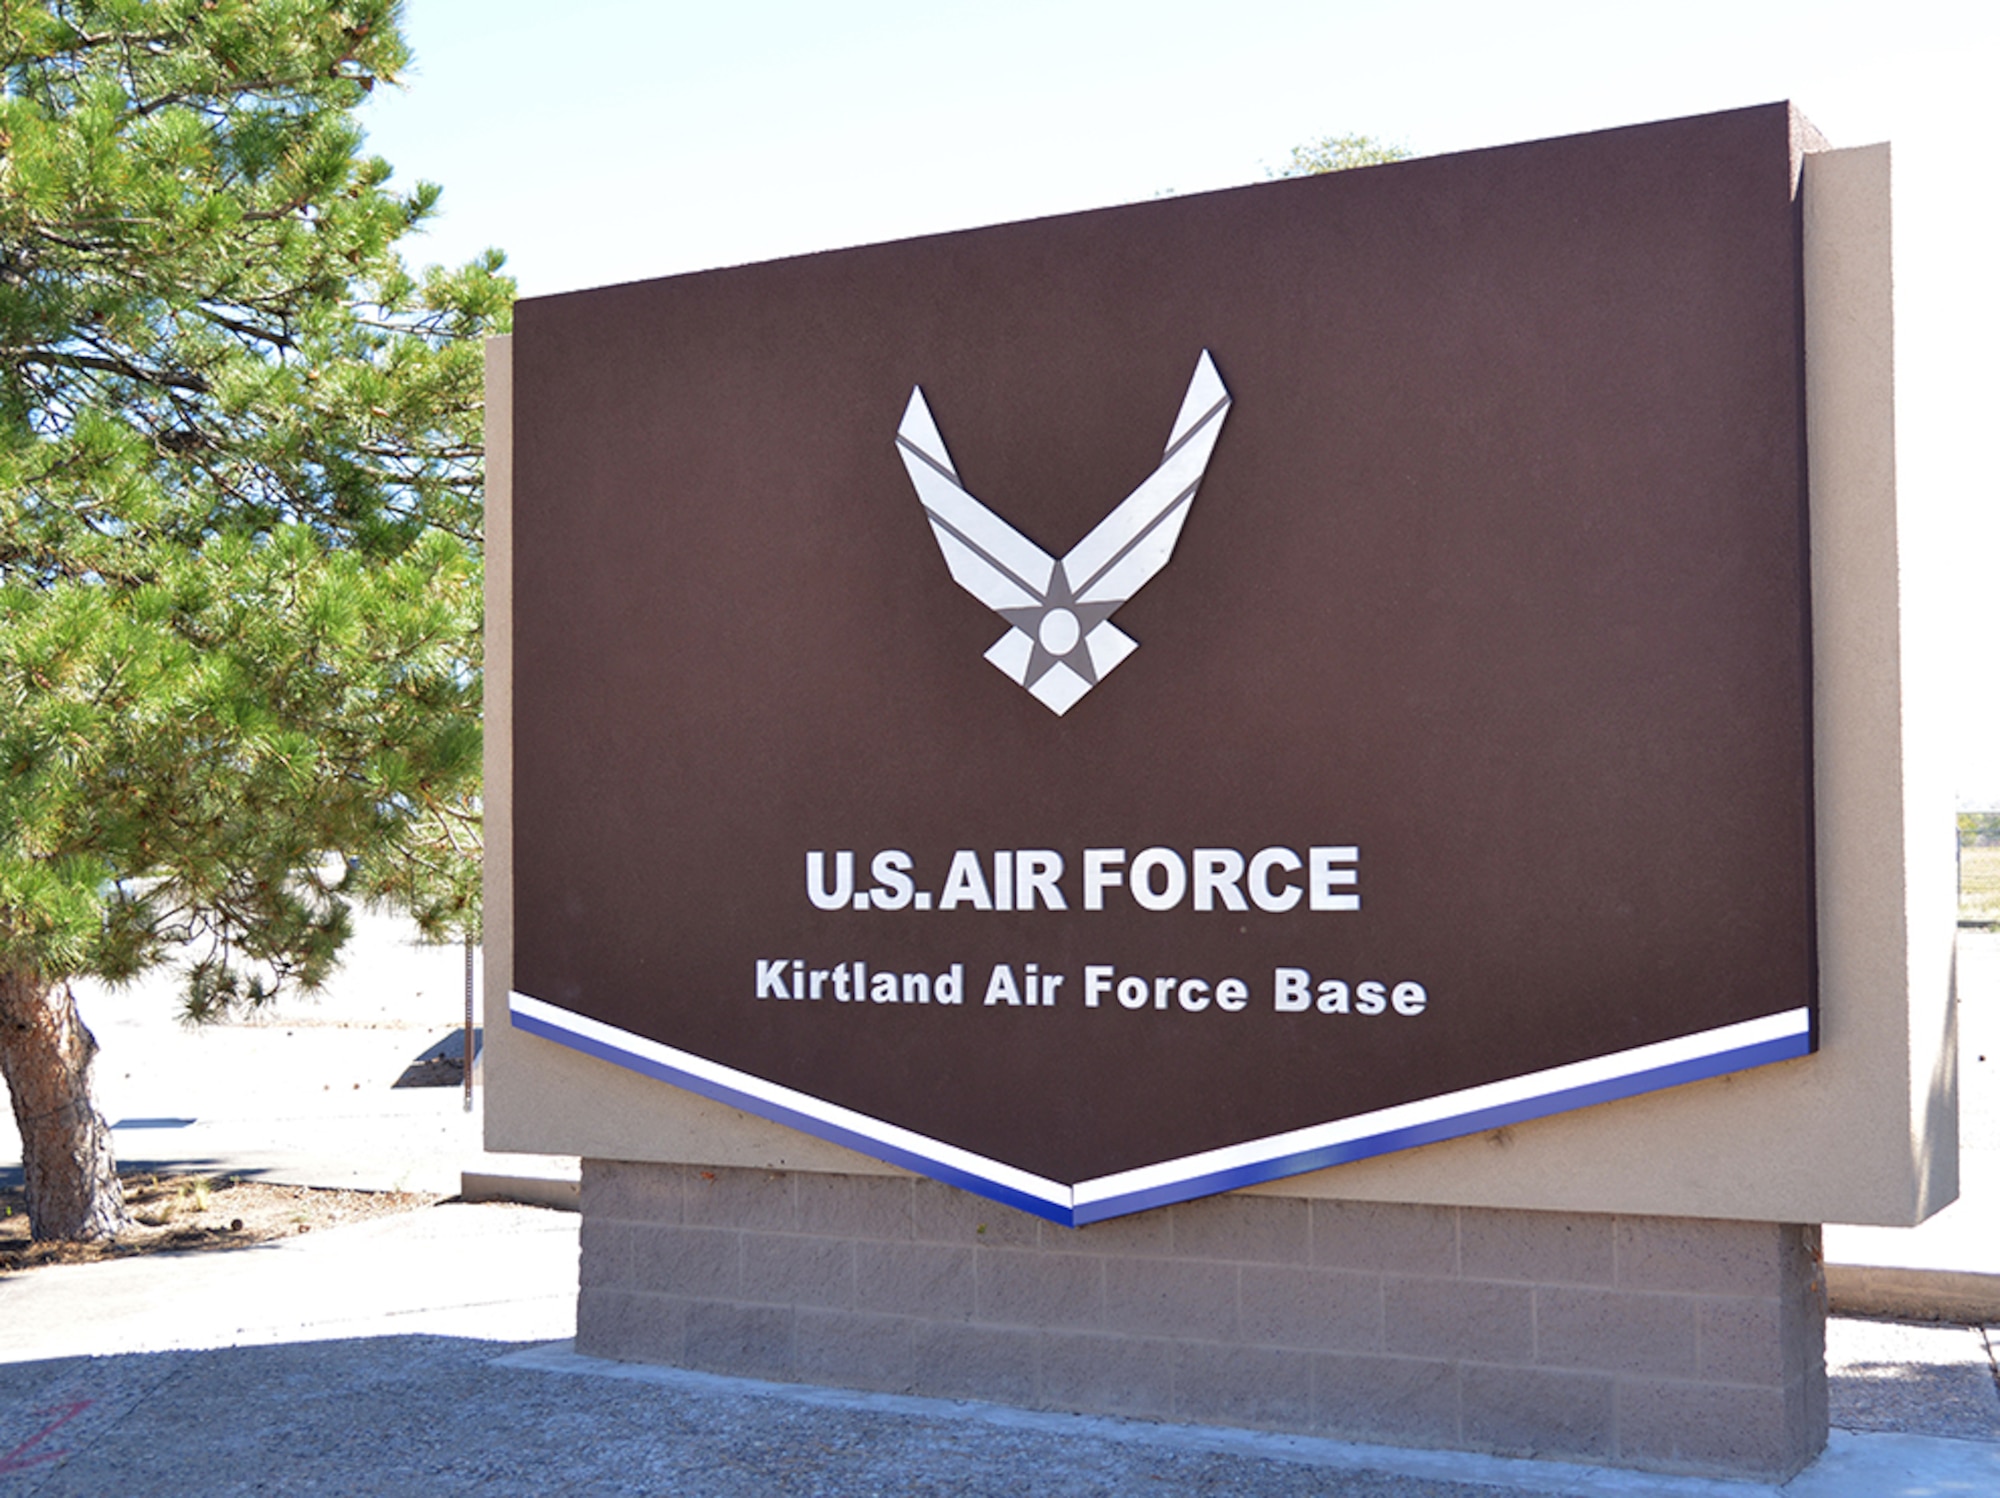
[[[1058,1222],[1812,1048],[1784,106],[514,358],[514,1024]]]

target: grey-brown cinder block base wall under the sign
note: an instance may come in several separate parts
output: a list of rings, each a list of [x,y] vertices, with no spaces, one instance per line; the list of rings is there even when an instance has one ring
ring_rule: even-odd
[[[584,1160],[582,1234],[602,1358],[1734,1476],[1826,1444],[1816,1226],[1218,1196],[1070,1230]]]

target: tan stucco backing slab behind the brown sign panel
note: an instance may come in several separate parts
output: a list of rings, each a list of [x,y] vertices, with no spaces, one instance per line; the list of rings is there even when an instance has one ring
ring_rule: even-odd
[[[1958,1194],[1952,802],[1910,670],[1932,596],[1896,492],[1890,150],[1804,162],[1816,1056],[1256,1188],[1764,1222],[1912,1224]],[[486,1144],[900,1174],[520,1034],[512,982],[512,362],[486,356]]]

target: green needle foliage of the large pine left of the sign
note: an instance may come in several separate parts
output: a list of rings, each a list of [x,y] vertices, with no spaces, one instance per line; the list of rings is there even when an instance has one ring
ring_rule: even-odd
[[[478,920],[488,252],[354,108],[394,0],[0,0],[0,966],[190,1012]]]

